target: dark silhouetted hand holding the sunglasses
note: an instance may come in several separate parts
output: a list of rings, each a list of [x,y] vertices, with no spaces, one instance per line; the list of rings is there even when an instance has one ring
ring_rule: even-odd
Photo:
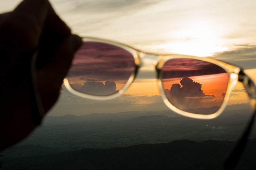
[[[38,91],[47,112],[56,102],[73,54],[82,44],[48,0],[24,0],[0,15],[0,151],[26,137],[31,119],[31,59],[38,51]]]

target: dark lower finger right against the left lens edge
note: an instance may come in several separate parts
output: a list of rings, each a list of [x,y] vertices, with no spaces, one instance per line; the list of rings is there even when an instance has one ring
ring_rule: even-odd
[[[58,46],[51,62],[38,69],[38,87],[41,99],[47,112],[56,102],[63,79],[71,65],[75,51],[82,45],[82,39],[77,35],[70,35]],[[42,50],[43,53],[45,50]],[[38,54],[42,55],[42,54]],[[47,55],[44,53],[44,55]]]

